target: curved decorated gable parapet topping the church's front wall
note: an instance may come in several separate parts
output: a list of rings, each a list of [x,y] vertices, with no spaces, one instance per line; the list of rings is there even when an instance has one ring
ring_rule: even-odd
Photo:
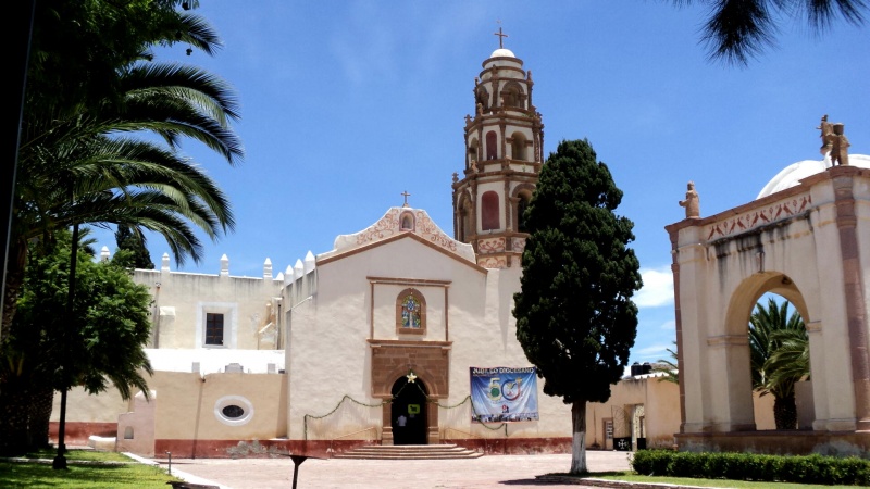
[[[462,260],[476,264],[474,248],[471,244],[450,238],[432,221],[426,211],[412,208],[390,208],[376,223],[365,229],[350,235],[339,235],[335,238],[333,250],[318,255],[318,260],[343,254],[406,233],[414,234]]]

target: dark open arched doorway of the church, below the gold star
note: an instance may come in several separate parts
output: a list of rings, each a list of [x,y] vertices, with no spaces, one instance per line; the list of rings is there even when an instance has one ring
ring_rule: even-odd
[[[390,421],[393,444],[427,444],[426,386],[420,378],[401,376],[393,384]]]

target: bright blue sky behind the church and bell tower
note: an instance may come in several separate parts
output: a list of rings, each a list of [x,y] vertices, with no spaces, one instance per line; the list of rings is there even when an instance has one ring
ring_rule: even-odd
[[[452,235],[451,175],[499,20],[533,72],[545,154],[588,138],[624,191],[618,213],[635,223],[645,280],[632,362],[668,358],[675,338],[664,226],[683,218],[686,181],[701,215],[748,202],[786,165],[821,158],[822,114],[845,123],[852,153],[870,153],[870,29],[847,24],[820,37],[785,20],[779,46],[738,67],[708,60],[703,8],[668,1],[203,0],[198,12],[223,50],[158,58],[237,89],[246,158],[229,167],[183,147],[238,223],[187,272],[217,274],[225,253],[232,275],[262,276],[266,258],[277,273],[374,223],[406,190]],[[114,250],[111,234],[97,237]],[[157,263],[169,251],[160,237],[149,249]]]

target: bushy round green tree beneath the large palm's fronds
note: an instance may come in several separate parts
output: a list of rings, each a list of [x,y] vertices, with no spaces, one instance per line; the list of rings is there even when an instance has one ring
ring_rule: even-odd
[[[16,435],[0,441],[5,453],[48,443],[54,390],[82,386],[99,393],[111,383],[123,399],[132,397],[132,387],[148,392],[145,374],[151,374],[151,366],[144,350],[150,338],[148,289],[136,285],[117,264],[96,263],[92,254],[83,251],[76,264],[76,314],[60,314],[67,299],[70,234],[59,233],[49,246],[50,251],[30,253],[18,310],[3,346],[7,362],[0,364],[4,386],[0,404],[30,406],[3,405],[3,412],[14,415],[0,423]]]

